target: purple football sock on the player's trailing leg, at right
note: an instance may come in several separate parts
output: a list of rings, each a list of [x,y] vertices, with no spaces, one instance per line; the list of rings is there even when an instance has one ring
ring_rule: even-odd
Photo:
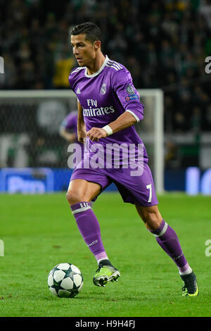
[[[187,275],[188,273],[191,273],[192,269],[184,257],[179,239],[174,229],[172,229],[165,220],[162,220],[158,229],[153,231],[150,230],[150,232],[155,235],[160,247],[162,247],[162,249],[172,258],[174,263],[176,263],[179,269],[179,274]]]

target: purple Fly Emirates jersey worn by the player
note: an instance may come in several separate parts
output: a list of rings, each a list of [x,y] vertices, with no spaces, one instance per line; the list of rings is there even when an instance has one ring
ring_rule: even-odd
[[[111,61],[106,56],[103,65],[93,75],[87,74],[86,67],[73,69],[69,76],[70,87],[77,95],[77,99],[83,108],[84,123],[87,131],[91,127],[103,127],[116,120],[122,113],[129,111],[137,122],[143,119],[143,104],[139,99],[132,76],[124,65]],[[148,162],[145,146],[141,141],[134,125],[114,133],[97,142],[106,144],[135,145],[135,154],[139,154],[138,144],[142,148],[142,160]],[[91,145],[96,144],[89,140]],[[87,150],[85,150],[86,152]]]

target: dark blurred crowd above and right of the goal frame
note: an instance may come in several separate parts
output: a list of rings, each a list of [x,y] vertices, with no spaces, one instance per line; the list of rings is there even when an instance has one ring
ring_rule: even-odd
[[[0,89],[67,89],[70,27],[94,22],[103,53],[138,89],[165,92],[165,132],[211,129],[211,4],[205,0],[0,0]]]

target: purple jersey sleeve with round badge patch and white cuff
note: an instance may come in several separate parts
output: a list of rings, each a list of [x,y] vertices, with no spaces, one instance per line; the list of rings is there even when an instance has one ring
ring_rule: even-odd
[[[132,76],[126,68],[115,73],[113,91],[122,104],[124,111],[132,113],[137,122],[143,119],[144,106],[141,104],[139,92],[133,85]]]

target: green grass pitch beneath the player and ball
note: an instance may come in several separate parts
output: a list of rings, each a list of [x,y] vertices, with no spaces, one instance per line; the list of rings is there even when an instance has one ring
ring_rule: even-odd
[[[65,193],[4,195],[0,199],[0,316],[211,316],[210,197],[158,196],[162,217],[177,232],[200,295],[181,298],[174,262],[158,246],[131,204],[103,193],[94,204],[108,257],[120,270],[118,282],[95,287],[97,265],[70,213]],[[84,276],[73,299],[53,296],[47,276],[58,263],[75,264]]]

